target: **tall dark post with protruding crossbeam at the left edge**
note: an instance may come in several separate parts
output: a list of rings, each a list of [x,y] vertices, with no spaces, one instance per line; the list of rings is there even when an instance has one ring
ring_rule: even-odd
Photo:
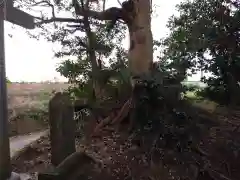
[[[16,178],[15,174],[11,176],[12,170],[8,137],[4,20],[28,29],[34,28],[34,18],[21,10],[15,9],[12,0],[0,1],[0,180]]]

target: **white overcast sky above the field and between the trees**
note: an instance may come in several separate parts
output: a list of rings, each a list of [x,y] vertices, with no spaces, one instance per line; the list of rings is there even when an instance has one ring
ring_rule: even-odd
[[[117,0],[108,0],[114,6]],[[168,18],[176,13],[175,5],[181,0],[153,0],[157,5],[157,17],[152,20],[153,36],[157,39],[166,36],[168,30],[166,23]],[[45,81],[53,80],[57,77],[64,80],[58,72],[55,71],[59,59],[53,57],[53,44],[46,40],[31,39],[21,27],[5,23],[5,54],[6,54],[6,71],[11,81]],[[9,37],[8,33],[13,37]],[[128,48],[128,41],[124,43]],[[196,75],[189,80],[199,80],[200,75]]]

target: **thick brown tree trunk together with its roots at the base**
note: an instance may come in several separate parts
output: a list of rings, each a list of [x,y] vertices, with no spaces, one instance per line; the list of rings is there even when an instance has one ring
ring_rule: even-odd
[[[151,0],[130,0],[133,2],[133,9],[129,13],[127,25],[129,30],[130,47],[128,52],[129,68],[132,79],[132,97],[127,101],[118,115],[121,122],[131,111],[129,130],[141,122],[146,122],[145,115],[148,109],[142,108],[138,104],[138,99],[144,93],[144,89],[136,86],[137,82],[134,77],[139,77],[150,73],[153,65],[153,37],[151,31]],[[141,112],[141,113],[140,113]],[[141,119],[144,119],[142,121]],[[138,122],[136,122],[136,120]],[[142,124],[143,125],[143,124]]]

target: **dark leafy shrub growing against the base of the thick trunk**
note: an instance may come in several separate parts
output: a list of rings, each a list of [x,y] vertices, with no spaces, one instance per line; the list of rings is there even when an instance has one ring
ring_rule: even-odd
[[[150,74],[135,77],[135,118],[138,119],[141,129],[149,124],[154,126],[153,121],[159,121],[159,112],[172,112],[178,106],[181,93],[184,92],[181,78],[168,71],[164,72],[159,64],[154,64]]]

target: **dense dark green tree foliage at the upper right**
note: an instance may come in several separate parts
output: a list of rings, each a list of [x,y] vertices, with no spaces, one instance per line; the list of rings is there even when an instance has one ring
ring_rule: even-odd
[[[223,103],[239,102],[240,8],[235,0],[194,0],[177,6],[164,40],[165,58],[180,61],[195,73],[210,72],[202,81],[208,84],[203,93]],[[214,95],[214,96],[213,96]]]

